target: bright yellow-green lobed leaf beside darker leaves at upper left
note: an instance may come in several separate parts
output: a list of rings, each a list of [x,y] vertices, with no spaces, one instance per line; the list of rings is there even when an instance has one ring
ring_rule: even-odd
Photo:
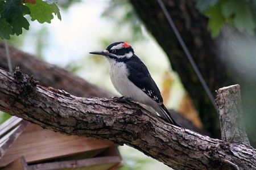
[[[39,23],[51,23],[51,20],[53,19],[52,13],[57,15],[58,18],[61,19],[59,8],[57,8],[55,3],[49,5],[42,0],[36,0],[35,5],[31,3],[26,3],[26,6],[30,8],[30,16],[32,21],[38,20]]]

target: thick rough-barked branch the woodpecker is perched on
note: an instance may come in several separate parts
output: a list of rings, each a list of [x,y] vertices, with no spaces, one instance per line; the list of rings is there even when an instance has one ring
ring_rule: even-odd
[[[82,98],[0,69],[0,109],[65,134],[110,139],[175,169],[256,168],[256,150],[172,126],[141,107]]]

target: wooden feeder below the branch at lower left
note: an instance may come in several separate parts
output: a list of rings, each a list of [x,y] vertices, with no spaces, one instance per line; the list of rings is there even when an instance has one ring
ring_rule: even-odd
[[[0,125],[0,169],[118,169],[111,141],[67,136],[11,117]]]

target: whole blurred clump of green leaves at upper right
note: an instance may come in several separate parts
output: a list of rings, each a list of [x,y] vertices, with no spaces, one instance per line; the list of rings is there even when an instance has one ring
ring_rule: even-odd
[[[197,0],[196,7],[209,18],[208,28],[217,37],[226,25],[254,35],[256,28],[255,0]]]

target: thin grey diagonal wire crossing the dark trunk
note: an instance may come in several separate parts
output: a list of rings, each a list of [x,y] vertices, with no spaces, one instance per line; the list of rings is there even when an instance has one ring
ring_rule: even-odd
[[[180,36],[180,33],[177,30],[177,28],[174,24],[174,21],[172,20],[170,14],[168,13],[168,11],[166,9],[166,6],[164,6],[164,3],[163,3],[162,0],[157,0],[157,1],[159,3],[159,6],[162,8],[164,16],[166,16],[166,19],[168,20],[168,23],[170,24],[172,30],[174,31],[175,36],[177,37],[177,40],[179,41],[181,47],[183,48],[185,55],[187,56],[189,62],[191,63],[193,69],[195,70],[197,77],[199,78],[202,86],[204,87],[205,92],[207,92],[207,95],[208,95],[211,103],[213,104],[213,107],[216,109],[216,112],[218,113],[218,109],[217,109],[216,104],[214,102],[214,97],[213,97],[212,93],[210,92],[209,87],[207,86],[207,83],[205,83],[205,80],[204,80],[202,74],[200,73],[198,67],[196,66],[195,61],[193,60],[191,54],[189,53],[189,50],[188,50],[187,46],[185,45],[185,42],[183,41],[182,37]]]

